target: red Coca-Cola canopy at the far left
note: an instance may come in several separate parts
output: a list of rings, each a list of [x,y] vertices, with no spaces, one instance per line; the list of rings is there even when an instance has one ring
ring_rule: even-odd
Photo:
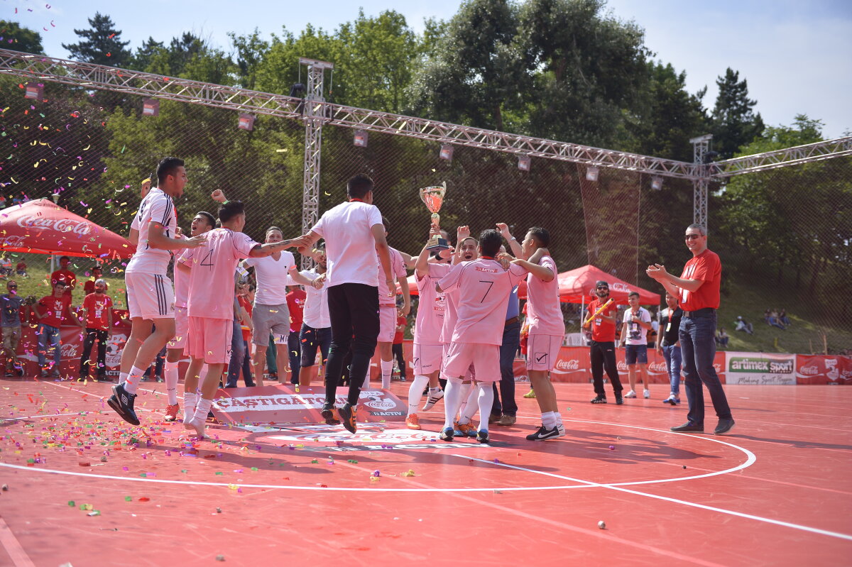
[[[130,257],[136,247],[49,199],[37,199],[0,210],[0,250],[112,260]]]

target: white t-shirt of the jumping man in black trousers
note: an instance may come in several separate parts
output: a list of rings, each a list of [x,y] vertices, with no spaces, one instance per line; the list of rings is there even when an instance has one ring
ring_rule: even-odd
[[[378,287],[376,241],[371,227],[381,224],[378,208],[361,201],[340,203],[323,213],[311,230],[325,238],[325,285],[364,283]]]

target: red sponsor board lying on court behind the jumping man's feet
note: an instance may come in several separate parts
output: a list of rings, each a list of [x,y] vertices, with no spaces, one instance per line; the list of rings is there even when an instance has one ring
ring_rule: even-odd
[[[337,390],[337,406],[346,404],[348,388]],[[213,414],[222,423],[322,422],[324,387],[296,389],[289,384],[220,389],[213,400]],[[388,390],[364,389],[358,401],[359,421],[405,421],[407,406]]]

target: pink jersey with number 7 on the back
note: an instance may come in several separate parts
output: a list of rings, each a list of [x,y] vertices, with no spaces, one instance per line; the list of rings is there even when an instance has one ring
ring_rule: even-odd
[[[439,283],[446,293],[456,294],[458,319],[452,331],[452,342],[503,344],[509,294],[526,274],[527,270],[515,264],[504,270],[491,258],[452,266]]]

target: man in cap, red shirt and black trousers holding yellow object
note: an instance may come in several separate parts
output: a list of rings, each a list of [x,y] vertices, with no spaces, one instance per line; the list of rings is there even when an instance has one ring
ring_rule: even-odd
[[[595,284],[596,299],[589,303],[589,315],[594,314],[604,303],[609,300],[609,283],[601,280]],[[592,404],[606,404],[607,392],[603,389],[603,370],[607,370],[609,383],[613,385],[615,403],[624,404],[621,398],[621,386],[619,369],[615,364],[615,316],[619,307],[611,303],[606,309],[598,313],[585,329],[591,327],[591,377],[595,385],[596,397],[591,400]]]

